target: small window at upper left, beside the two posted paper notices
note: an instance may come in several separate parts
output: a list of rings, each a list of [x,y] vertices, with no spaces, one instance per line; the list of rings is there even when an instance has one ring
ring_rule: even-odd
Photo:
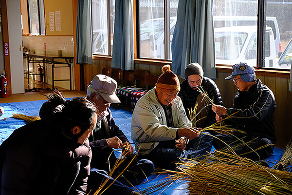
[[[45,35],[44,8],[42,0],[28,0],[31,35]]]

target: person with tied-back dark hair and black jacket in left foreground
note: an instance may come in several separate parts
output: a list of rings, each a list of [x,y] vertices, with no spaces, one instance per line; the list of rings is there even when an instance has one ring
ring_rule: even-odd
[[[43,106],[0,145],[0,195],[86,195],[96,108],[85,98]]]

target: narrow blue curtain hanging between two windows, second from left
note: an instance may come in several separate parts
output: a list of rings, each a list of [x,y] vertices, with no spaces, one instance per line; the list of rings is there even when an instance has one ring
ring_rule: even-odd
[[[111,67],[134,70],[133,1],[115,1]]]

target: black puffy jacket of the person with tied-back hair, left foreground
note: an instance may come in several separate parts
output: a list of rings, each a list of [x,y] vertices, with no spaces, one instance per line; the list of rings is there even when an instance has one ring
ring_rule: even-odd
[[[85,195],[91,148],[37,120],[0,145],[0,195]]]

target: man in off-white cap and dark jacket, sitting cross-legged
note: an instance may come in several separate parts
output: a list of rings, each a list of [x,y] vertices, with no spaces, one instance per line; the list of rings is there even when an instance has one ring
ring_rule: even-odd
[[[93,130],[93,134],[89,137],[92,159],[88,190],[93,192],[98,189],[99,184],[105,178],[109,177],[110,169],[112,169],[117,160],[112,153],[113,148],[119,149],[124,145],[128,145],[128,157],[116,169],[115,173],[117,175],[125,169],[132,159],[133,146],[129,144],[128,138],[120,128],[115,125],[109,109],[110,103],[120,103],[119,98],[115,94],[116,89],[117,82],[106,75],[96,75],[87,88],[87,99],[94,103],[98,113],[101,113],[98,116],[97,125]],[[104,194],[111,195],[119,192],[121,195],[140,195],[127,185],[141,183],[152,172],[154,172],[154,165],[150,160],[134,159],[127,168],[127,171],[123,173],[123,176],[119,177]],[[111,182],[113,180],[114,178],[110,178]]]

